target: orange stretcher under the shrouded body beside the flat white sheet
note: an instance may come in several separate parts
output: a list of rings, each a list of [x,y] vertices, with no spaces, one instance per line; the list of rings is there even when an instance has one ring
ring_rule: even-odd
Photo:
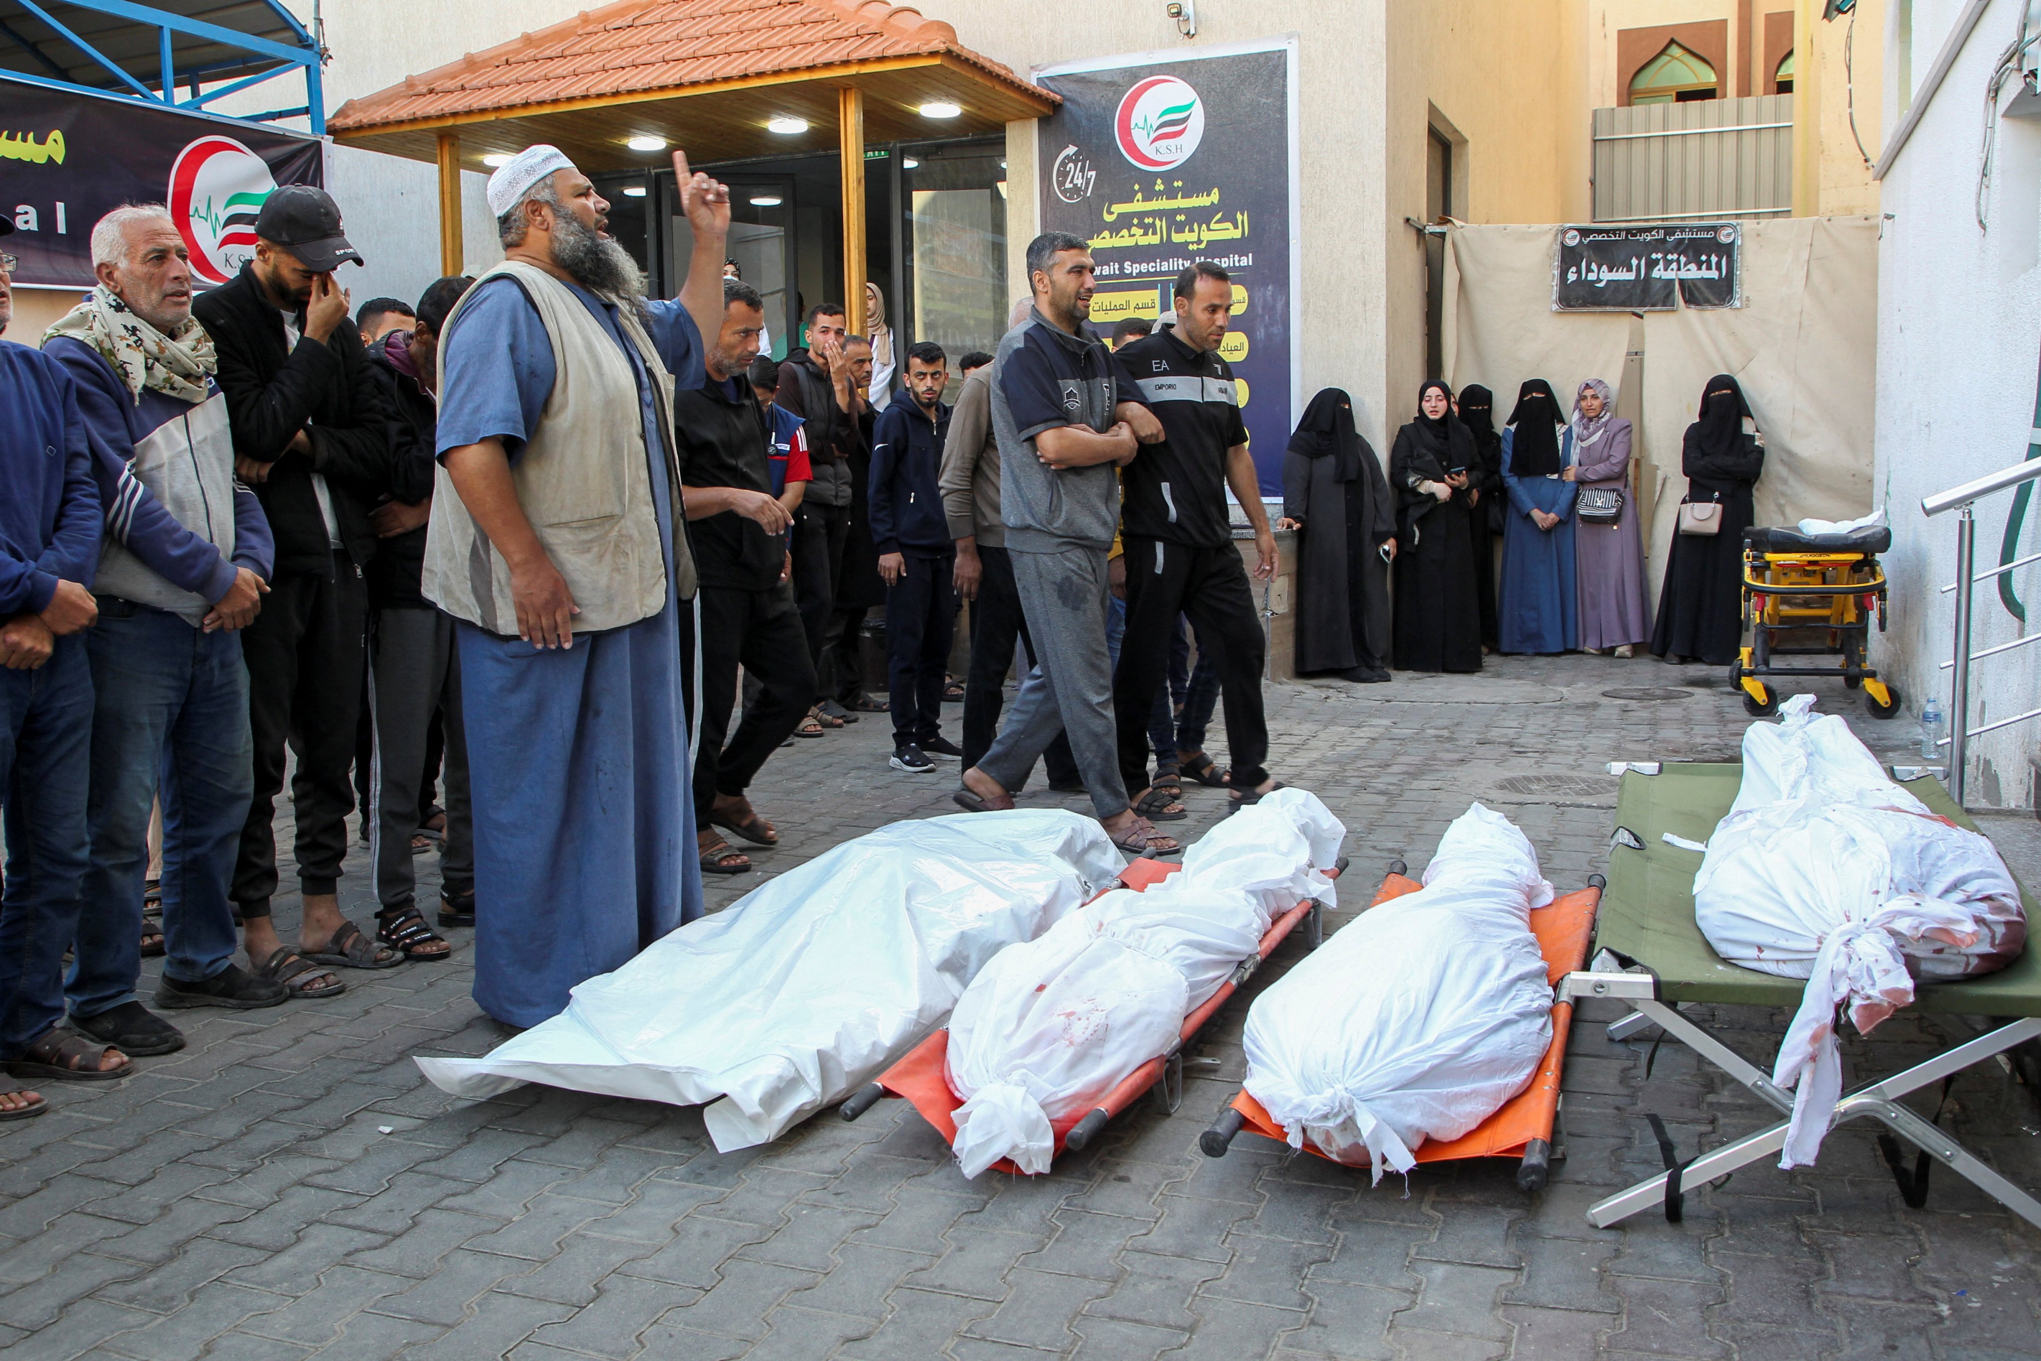
[[[1327,877],[1337,879],[1347,867],[1345,857],[1327,871]],[[1131,888],[1135,892],[1147,890],[1159,884],[1167,875],[1182,869],[1182,865],[1167,865],[1163,861],[1137,859],[1127,869],[1121,871],[1118,884],[1114,888]],[[1412,886],[1414,888],[1414,886]],[[1051,1120],[1049,1128],[1055,1132],[1055,1153],[1063,1149],[1084,1149],[1090,1141],[1098,1139],[1098,1132],[1106,1128],[1106,1122],[1133,1106],[1137,1100],[1147,1096],[1151,1090],[1157,1096],[1157,1104],[1165,1114],[1174,1114],[1184,1102],[1184,1047],[1198,1035],[1206,1020],[1210,1020],[1221,1006],[1227,1004],[1241,984],[1267,959],[1278,945],[1282,945],[1292,930],[1298,926],[1306,928],[1308,949],[1316,949],[1325,939],[1325,908],[1314,900],[1306,898],[1282,916],[1278,916],[1267,935],[1261,937],[1259,947],[1249,959],[1243,959],[1239,967],[1218,986],[1210,998],[1206,998],[1194,1012],[1184,1016],[1184,1026],[1178,1030],[1176,1045],[1169,1053],[1155,1055],[1127,1077],[1118,1081],[1104,1100],[1100,1100],[1090,1110],[1072,1112],[1059,1120]],[[949,1077],[945,1073],[945,1055],[949,1053],[949,1026],[935,1030],[923,1043],[914,1045],[898,1063],[880,1073],[878,1081],[867,1083],[853,1092],[837,1112],[845,1120],[855,1120],[857,1116],[872,1110],[884,1096],[904,1096],[920,1112],[920,1118],[937,1128],[947,1143],[957,1139],[957,1106],[963,1104],[955,1092],[949,1090]],[[1053,1155],[1051,1155],[1053,1157]],[[992,1163],[994,1171],[1008,1171],[1023,1175],[1014,1167],[1012,1159],[1000,1159]]]

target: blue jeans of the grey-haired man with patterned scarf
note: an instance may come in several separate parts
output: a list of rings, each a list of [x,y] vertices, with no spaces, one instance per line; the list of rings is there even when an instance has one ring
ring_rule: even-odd
[[[86,635],[92,720],[92,869],[65,992],[76,1016],[135,1000],[149,804],[163,796],[163,973],[196,984],[235,955],[227,888],[255,792],[239,633],[112,596]],[[259,963],[259,961],[257,961]]]

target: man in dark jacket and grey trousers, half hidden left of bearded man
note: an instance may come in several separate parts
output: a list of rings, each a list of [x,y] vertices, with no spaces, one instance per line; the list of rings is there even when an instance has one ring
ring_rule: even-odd
[[[433,449],[439,443],[439,331],[471,278],[437,280],[418,300],[408,331],[390,331],[369,347],[369,369],[384,400],[412,439],[390,469],[390,500],[369,520],[382,543],[367,569],[369,716],[376,728],[374,777],[363,822],[376,863],[378,935],[412,959],[449,951],[418,912],[418,871],[410,839],[418,826],[418,788],[427,779],[433,714],[443,714],[447,837],[439,861],[439,924],[476,924],[476,841],[467,806],[467,733],[461,726],[461,661],[453,616],[425,598],[425,535],[433,512]]]

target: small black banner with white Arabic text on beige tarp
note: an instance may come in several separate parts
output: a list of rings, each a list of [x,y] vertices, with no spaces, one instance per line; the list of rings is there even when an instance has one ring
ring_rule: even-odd
[[[1737,222],[1561,226],[1553,312],[1670,312],[1743,306]]]

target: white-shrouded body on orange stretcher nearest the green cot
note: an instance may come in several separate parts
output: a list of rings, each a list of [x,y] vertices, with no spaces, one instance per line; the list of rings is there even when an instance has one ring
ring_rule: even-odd
[[[1551,988],[1531,908],[1551,902],[1537,851],[1474,804],[1445,828],[1425,888],[1361,912],[1247,1012],[1247,1094],[1355,1167],[1410,1171],[1537,1073]]]

